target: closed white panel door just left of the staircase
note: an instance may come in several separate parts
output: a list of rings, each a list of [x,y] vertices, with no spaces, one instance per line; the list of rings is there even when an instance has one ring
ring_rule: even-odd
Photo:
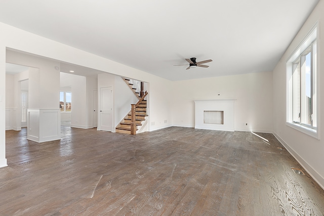
[[[112,132],[112,87],[100,88],[100,131]]]

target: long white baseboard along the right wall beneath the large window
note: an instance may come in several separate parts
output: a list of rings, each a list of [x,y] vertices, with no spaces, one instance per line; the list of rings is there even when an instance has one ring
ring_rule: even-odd
[[[276,133],[272,132],[273,136],[286,148],[286,150],[298,161],[298,163],[308,172],[314,181],[324,190],[324,178],[307,163],[297,152],[295,152],[288,143],[280,138]]]

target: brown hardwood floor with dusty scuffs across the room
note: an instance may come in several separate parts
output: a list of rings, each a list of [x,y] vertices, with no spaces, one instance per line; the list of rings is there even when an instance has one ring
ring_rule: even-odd
[[[271,134],[62,126],[6,132],[0,215],[324,215],[324,191]],[[291,167],[305,172],[299,175]]]

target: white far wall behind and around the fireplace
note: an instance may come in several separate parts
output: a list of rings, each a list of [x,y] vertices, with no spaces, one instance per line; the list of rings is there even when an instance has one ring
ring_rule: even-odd
[[[236,99],[235,131],[272,133],[272,72],[176,81],[174,96],[173,125],[194,127],[194,100]]]

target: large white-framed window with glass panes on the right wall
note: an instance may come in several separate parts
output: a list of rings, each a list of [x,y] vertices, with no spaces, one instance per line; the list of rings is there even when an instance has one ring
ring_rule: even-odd
[[[316,25],[317,26],[317,25]],[[317,28],[287,61],[287,125],[319,139],[317,133]]]

